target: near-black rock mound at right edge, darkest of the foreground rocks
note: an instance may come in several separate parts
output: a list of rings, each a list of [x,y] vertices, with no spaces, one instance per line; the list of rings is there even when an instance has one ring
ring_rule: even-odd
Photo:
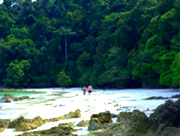
[[[149,120],[155,128],[152,136],[180,136],[180,99],[157,107]]]

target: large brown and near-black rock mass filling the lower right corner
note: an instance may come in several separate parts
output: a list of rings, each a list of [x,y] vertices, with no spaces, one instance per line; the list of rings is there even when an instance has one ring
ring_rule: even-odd
[[[168,100],[148,118],[144,112],[121,112],[117,123],[104,125],[89,136],[180,136],[180,99]]]

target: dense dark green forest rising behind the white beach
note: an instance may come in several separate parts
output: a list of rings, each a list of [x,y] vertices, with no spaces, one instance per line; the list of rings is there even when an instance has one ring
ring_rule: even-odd
[[[180,87],[180,0],[4,0],[0,84]]]

